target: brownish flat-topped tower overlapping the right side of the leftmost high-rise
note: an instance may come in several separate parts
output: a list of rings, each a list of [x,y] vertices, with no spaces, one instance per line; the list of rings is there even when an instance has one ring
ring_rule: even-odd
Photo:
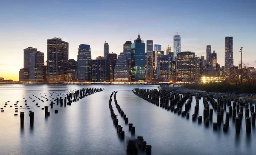
[[[40,51],[30,54],[30,81],[44,83],[44,53]]]

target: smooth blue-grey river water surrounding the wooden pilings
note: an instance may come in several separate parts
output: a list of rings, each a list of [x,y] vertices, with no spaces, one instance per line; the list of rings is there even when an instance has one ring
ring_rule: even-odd
[[[57,93],[87,87],[105,90],[72,103],[72,106],[54,104],[52,109],[49,107],[50,116],[45,118],[41,107],[49,106],[50,101],[47,102],[45,98],[51,100],[50,93],[56,98]],[[127,141],[137,139],[138,135],[142,135],[144,141],[152,146],[152,155],[240,155],[256,152],[256,129],[252,126],[251,134],[246,134],[245,117],[239,135],[235,133],[232,120],[227,133],[223,132],[222,127],[213,131],[212,122],[209,127],[205,127],[204,123],[192,122],[195,97],[189,111],[190,119],[187,120],[137,97],[131,91],[134,87],[157,89],[157,86],[0,85],[0,107],[10,101],[4,112],[0,113],[0,155],[125,155]],[[116,100],[129,118],[129,123],[136,127],[135,135],[131,135],[128,126],[117,116],[125,131],[123,141],[116,134],[108,108],[109,96],[114,90],[118,91]],[[29,95],[32,99],[29,99]],[[18,113],[25,112],[24,128],[20,127],[20,115],[14,116],[17,100]],[[24,108],[24,100],[27,100],[30,109]],[[33,100],[41,107],[35,106]],[[203,116],[202,99],[199,102],[199,115]],[[23,107],[20,108],[20,105]],[[118,114],[113,101],[112,105]],[[58,109],[58,114],[54,113],[55,109]],[[35,112],[33,127],[29,125],[29,110]],[[212,121],[216,122],[215,111]]]

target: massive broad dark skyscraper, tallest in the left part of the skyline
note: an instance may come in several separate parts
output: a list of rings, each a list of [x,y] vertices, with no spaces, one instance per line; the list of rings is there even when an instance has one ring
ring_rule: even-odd
[[[68,69],[68,43],[61,38],[47,40],[47,80],[62,82]]]

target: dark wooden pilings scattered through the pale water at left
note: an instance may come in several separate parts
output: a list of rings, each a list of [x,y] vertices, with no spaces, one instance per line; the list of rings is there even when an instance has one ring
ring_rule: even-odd
[[[71,103],[73,101],[76,102],[79,99],[82,99],[82,98],[84,98],[84,97],[86,97],[88,95],[94,94],[96,92],[102,92],[103,90],[104,89],[101,89],[101,88],[100,89],[99,88],[97,88],[97,89],[96,88],[95,89],[93,89],[93,88],[92,89],[91,88],[90,89],[88,89],[88,88],[84,89],[83,88],[83,89],[77,90],[74,93],[67,94],[67,97],[64,97],[64,106],[66,106],[66,105],[70,105],[71,106]],[[74,99],[71,100],[72,98],[74,98]],[[67,100],[69,102],[67,102]],[[27,100],[25,100],[25,101],[27,101]],[[57,105],[60,103],[60,106],[63,106],[63,99],[61,97],[60,98],[56,98],[55,101],[56,101]],[[53,103],[51,101],[51,103],[50,103],[50,107],[51,108],[53,108],[53,104],[55,104],[55,103]],[[27,105],[26,102],[25,102],[25,105]],[[38,103],[36,103],[36,105],[38,105]],[[44,108],[42,108],[42,110],[44,110],[45,117],[50,116],[50,112],[48,112],[48,106],[44,106]],[[55,114],[58,113],[58,109],[55,109],[54,113]],[[25,113],[24,112],[20,112],[20,125],[21,126],[24,125],[24,116],[25,116]],[[34,112],[29,111],[29,118],[30,118],[30,125],[33,125],[34,124]]]

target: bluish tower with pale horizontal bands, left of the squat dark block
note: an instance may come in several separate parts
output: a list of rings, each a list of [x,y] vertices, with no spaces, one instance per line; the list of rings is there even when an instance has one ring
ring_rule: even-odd
[[[91,51],[90,45],[79,45],[77,55],[77,80],[90,82],[91,80]]]

